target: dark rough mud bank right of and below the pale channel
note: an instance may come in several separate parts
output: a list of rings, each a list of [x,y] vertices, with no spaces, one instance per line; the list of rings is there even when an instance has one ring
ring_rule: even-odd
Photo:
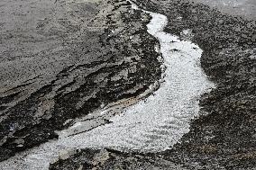
[[[66,169],[70,165],[85,169],[255,168],[255,21],[182,0],[143,2],[137,1],[149,11],[168,16],[166,31],[180,35],[181,31],[192,30],[192,40],[204,50],[201,65],[217,88],[201,97],[202,115],[170,150],[153,155],[137,153],[139,156],[107,150],[105,152],[111,157],[104,162],[97,162],[93,157],[85,160],[87,156],[75,154],[70,159],[59,160],[51,168]],[[204,115],[205,112],[208,114]],[[90,152],[92,150],[78,151],[80,154]]]

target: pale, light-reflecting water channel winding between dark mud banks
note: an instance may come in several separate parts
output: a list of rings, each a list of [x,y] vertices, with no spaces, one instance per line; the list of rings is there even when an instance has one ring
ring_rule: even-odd
[[[152,19],[148,31],[160,40],[160,51],[166,66],[160,89],[147,100],[122,110],[110,119],[112,123],[90,130],[90,126],[103,123],[101,119],[87,121],[86,124],[84,121],[77,122],[69,130],[60,131],[59,140],[20,153],[0,163],[0,169],[48,169],[50,161],[59,153],[65,157],[65,150],[69,148],[162,151],[173,146],[188,132],[189,122],[200,109],[198,97],[214,85],[207,80],[200,67],[202,50],[196,44],[178,40],[178,37],[164,32],[163,28],[168,23],[166,16],[150,14]],[[111,111],[115,110],[118,108]],[[108,113],[109,109],[96,115],[101,117]],[[76,134],[79,130],[88,131]]]

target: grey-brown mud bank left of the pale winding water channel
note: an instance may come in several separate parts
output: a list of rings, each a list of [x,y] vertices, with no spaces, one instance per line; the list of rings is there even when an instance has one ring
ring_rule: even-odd
[[[0,4],[0,160],[160,79],[149,15],[126,1]]]

